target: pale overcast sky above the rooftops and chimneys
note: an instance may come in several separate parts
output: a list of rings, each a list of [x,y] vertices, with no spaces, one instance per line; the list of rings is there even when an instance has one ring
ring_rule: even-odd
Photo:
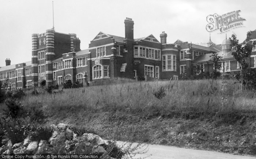
[[[255,0],[54,0],[56,32],[76,33],[81,49],[100,32],[124,37],[124,19],[134,21],[134,38],[167,33],[167,43],[177,39],[204,44],[209,40],[206,17],[241,10],[244,26],[227,32],[243,41],[256,29]],[[0,67],[31,60],[31,34],[44,33],[53,26],[52,0],[0,0]],[[226,35],[211,32],[221,44]]]

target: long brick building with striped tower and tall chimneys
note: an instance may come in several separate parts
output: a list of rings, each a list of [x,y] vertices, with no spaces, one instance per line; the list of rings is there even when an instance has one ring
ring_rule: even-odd
[[[198,67],[204,72],[213,71],[210,61],[212,52],[222,56],[220,72],[234,72],[239,65],[231,55],[231,41],[221,45],[211,41],[207,47],[177,40],[167,44],[167,34],[160,34],[160,42],[151,34],[142,38],[133,37],[134,22],[124,20],[125,37],[99,32],[90,41],[89,48],[80,50],[80,40],[74,33],[59,33],[53,29],[32,35],[31,61],[0,67],[2,83],[8,79],[15,88],[31,88],[44,85],[97,82],[117,77],[178,79],[182,74],[192,75]],[[252,32],[256,40],[256,31]],[[250,67],[256,67],[256,49],[250,57]]]

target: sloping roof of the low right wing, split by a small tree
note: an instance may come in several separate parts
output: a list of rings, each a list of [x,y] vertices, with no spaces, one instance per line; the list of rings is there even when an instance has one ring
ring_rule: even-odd
[[[225,59],[231,59],[231,58],[234,58],[234,56],[232,55],[232,52],[234,50],[231,50],[227,53],[223,53],[222,51],[221,52],[218,52],[218,56],[221,56],[222,57],[222,60],[225,60]],[[222,56],[223,54],[223,56]],[[201,62],[206,62],[206,61],[210,61],[211,59],[211,56],[212,54],[211,53],[207,53],[207,54],[204,54],[204,55],[201,55],[199,57],[197,57],[196,59],[193,60],[193,63],[201,63]]]

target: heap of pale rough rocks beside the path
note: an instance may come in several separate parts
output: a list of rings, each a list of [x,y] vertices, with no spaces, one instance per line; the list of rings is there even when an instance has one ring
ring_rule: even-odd
[[[4,139],[0,148],[0,154],[98,154],[102,158],[114,159],[109,156],[106,148],[108,144],[92,133],[84,133],[79,136],[66,124],[50,126],[52,136],[49,140],[32,140],[27,136],[23,142],[13,144],[11,140]],[[104,148],[105,147],[105,148]],[[111,149],[111,148],[110,148]]]

